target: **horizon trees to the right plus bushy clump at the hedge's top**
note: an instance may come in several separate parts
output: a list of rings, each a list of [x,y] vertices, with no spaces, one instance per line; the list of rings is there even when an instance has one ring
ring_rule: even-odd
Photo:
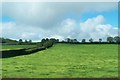
[[[59,43],[59,39],[55,39],[55,38],[44,38],[41,40],[41,42],[37,43],[38,46],[44,46],[45,48],[49,48],[49,47],[52,47],[53,44],[55,43]],[[70,39],[70,38],[67,38],[65,39],[65,41],[62,41],[60,43],[88,43],[86,42],[86,39],[82,39],[81,42],[77,41],[77,39]],[[90,38],[89,39],[89,43],[95,43],[95,44],[98,44],[98,43],[120,43],[120,37],[119,36],[115,36],[115,37],[107,37],[106,39],[106,42],[102,42],[102,39],[99,38],[98,42],[94,42],[94,39]]]

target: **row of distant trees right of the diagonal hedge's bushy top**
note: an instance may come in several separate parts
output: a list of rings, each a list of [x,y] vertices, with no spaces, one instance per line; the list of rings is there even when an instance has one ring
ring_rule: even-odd
[[[94,41],[93,38],[89,39],[89,42],[86,41],[86,39],[82,39],[81,41],[78,41],[77,39],[70,39],[66,38],[65,40],[59,41],[59,39],[51,38],[51,39],[42,39],[41,43],[43,43],[45,40],[52,40],[54,43],[75,43],[75,44],[115,44],[120,43],[120,37],[107,37],[106,41],[102,41],[101,38],[98,39],[98,41]]]

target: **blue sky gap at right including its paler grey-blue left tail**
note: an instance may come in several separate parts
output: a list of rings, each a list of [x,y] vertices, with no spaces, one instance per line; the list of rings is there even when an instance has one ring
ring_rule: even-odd
[[[105,17],[105,23],[113,25],[113,27],[118,27],[118,9],[110,10],[110,11],[104,11],[104,12],[96,12],[96,11],[89,11],[82,14],[77,14],[74,12],[71,12],[69,14],[65,15],[65,18],[72,18],[76,19],[78,22],[84,22],[88,18],[96,17],[97,15],[103,15]]]

